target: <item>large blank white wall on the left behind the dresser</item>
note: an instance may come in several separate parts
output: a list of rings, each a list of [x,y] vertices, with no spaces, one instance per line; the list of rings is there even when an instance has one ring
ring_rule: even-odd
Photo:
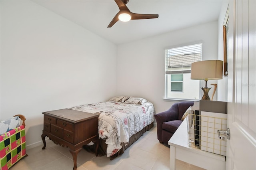
[[[117,46],[31,1],[1,1],[1,120],[26,117],[41,142],[44,111],[109,99]]]

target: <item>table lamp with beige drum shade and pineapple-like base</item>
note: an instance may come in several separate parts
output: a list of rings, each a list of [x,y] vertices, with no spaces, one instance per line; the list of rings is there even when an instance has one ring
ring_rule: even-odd
[[[197,61],[191,64],[191,79],[205,81],[205,87],[201,87],[204,91],[202,100],[210,100],[208,92],[211,87],[207,87],[207,81],[222,79],[222,72],[223,61],[221,60]]]

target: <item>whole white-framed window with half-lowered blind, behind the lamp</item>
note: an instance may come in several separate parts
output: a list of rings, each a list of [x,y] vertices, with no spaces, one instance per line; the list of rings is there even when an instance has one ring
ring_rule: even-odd
[[[191,63],[202,60],[202,43],[165,50],[165,98],[199,100],[200,81],[191,80]]]

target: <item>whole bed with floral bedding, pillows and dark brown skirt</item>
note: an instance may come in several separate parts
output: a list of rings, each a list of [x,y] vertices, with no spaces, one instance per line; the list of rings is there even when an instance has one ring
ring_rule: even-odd
[[[140,97],[116,96],[109,101],[79,105],[70,109],[99,115],[98,155],[112,160],[153,127],[154,106]],[[94,146],[84,146],[94,152]]]

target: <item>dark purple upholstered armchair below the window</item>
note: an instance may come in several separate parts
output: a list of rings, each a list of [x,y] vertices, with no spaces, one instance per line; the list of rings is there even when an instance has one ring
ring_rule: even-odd
[[[194,102],[184,101],[174,103],[170,109],[155,115],[157,123],[157,138],[160,143],[168,144],[168,141],[182,123],[185,111],[193,106]]]

